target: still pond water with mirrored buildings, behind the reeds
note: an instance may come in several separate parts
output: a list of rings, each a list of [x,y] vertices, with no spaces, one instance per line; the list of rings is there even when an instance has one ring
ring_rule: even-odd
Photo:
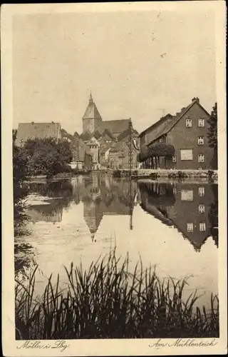
[[[80,262],[86,268],[116,247],[129,253],[131,266],[156,266],[161,277],[189,277],[187,291],[218,293],[217,184],[178,181],[129,181],[108,174],[76,176],[70,181],[29,183],[29,234],[16,238],[28,249],[16,254],[16,273],[38,264],[36,293],[46,278]]]

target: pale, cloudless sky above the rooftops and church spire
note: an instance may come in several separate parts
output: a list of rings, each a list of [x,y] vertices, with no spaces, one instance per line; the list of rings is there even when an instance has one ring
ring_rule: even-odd
[[[103,120],[139,132],[193,97],[216,99],[214,15],[112,11],[16,15],[13,116],[82,132],[90,91]]]

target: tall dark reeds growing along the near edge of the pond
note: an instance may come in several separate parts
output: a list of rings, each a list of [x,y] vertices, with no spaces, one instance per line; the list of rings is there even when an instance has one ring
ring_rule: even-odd
[[[36,269],[28,286],[16,281],[17,339],[176,338],[218,337],[219,300],[211,309],[195,306],[197,292],[183,298],[187,281],[160,280],[142,263],[129,272],[115,251],[91,263],[87,270],[73,267],[66,274],[68,288],[51,276],[43,296],[35,298]]]

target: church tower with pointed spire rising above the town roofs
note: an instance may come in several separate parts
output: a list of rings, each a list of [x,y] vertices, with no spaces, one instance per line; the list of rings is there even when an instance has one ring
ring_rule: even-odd
[[[92,134],[99,128],[99,126],[101,126],[101,122],[102,118],[93,101],[92,94],[90,93],[88,106],[86,108],[85,114],[83,115],[83,133],[88,132]]]

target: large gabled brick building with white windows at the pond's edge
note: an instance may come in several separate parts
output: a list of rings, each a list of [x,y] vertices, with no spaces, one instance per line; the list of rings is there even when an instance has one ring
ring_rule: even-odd
[[[167,114],[140,134],[139,160],[152,169],[212,169],[213,151],[209,148],[209,114],[198,98],[175,116]],[[171,154],[156,153],[165,146]],[[164,151],[165,152],[165,151]]]

